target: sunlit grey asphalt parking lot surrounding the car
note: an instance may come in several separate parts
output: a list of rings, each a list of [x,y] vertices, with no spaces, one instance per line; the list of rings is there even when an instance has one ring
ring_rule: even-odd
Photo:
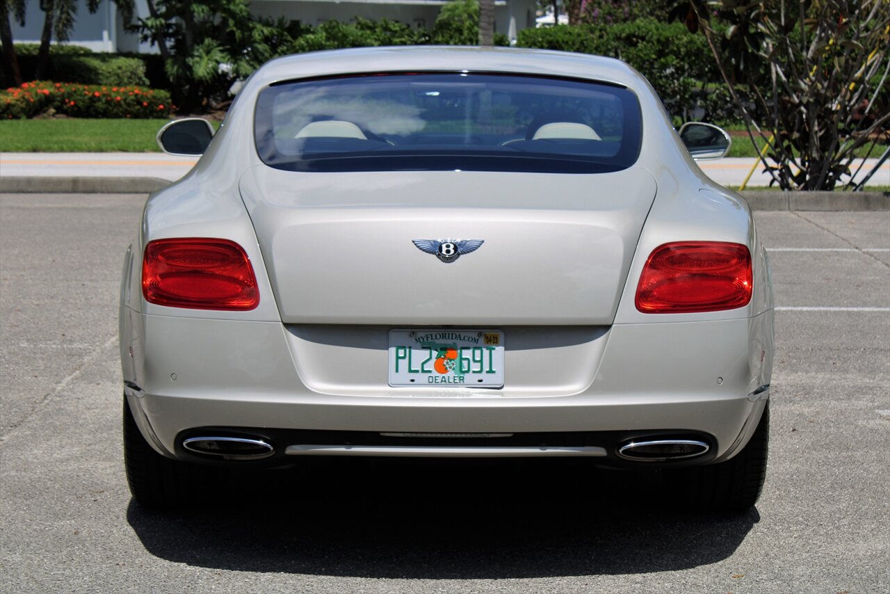
[[[243,475],[149,513],[117,363],[143,200],[0,195],[0,591],[890,590],[890,212],[756,213],[779,311],[742,517],[659,505],[651,476],[465,463]]]

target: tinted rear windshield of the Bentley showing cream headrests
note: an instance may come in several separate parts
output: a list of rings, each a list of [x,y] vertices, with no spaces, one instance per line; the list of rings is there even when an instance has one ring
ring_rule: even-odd
[[[256,148],[288,171],[604,173],[640,151],[640,107],[617,85],[430,73],[269,86]]]

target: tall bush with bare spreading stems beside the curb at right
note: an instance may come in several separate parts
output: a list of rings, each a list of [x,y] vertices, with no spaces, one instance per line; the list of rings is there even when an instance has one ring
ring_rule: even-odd
[[[890,2],[681,0],[670,16],[704,34],[771,183],[854,187],[859,151],[890,129]]]

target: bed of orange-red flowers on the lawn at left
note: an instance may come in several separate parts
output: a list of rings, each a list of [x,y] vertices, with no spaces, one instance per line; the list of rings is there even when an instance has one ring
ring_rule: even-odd
[[[170,94],[139,86],[80,85],[35,81],[0,91],[0,118],[54,113],[74,118],[166,118]]]

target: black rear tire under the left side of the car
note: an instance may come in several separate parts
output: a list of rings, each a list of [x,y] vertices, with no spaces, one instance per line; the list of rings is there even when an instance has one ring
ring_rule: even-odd
[[[192,505],[199,497],[218,500],[215,491],[224,468],[170,460],[145,441],[130,405],[124,398],[124,467],[134,500],[146,508],[177,508]]]

